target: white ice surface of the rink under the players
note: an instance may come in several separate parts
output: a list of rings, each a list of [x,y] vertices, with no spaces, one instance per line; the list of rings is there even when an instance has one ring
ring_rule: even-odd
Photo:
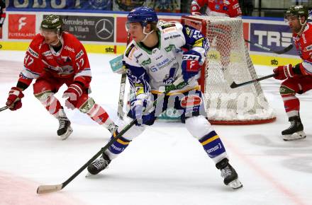
[[[16,86],[24,52],[0,51],[0,107]],[[113,55],[89,54],[91,96],[116,119],[120,76],[108,60]],[[257,66],[258,76],[272,68]],[[58,122],[33,96],[30,86],[23,107],[0,112],[0,204],[106,205],[308,205],[312,204],[312,98],[299,96],[307,138],[282,140],[289,127],[279,96],[280,81],[262,81],[277,121],[245,126],[214,126],[225,144],[243,189],[223,185],[213,161],[184,124],[156,122],[95,177],[82,172],[60,192],[36,194],[38,185],[67,180],[99,149],[110,134],[79,111],[67,110],[74,132],[57,138]],[[57,97],[61,102],[62,87]]]

